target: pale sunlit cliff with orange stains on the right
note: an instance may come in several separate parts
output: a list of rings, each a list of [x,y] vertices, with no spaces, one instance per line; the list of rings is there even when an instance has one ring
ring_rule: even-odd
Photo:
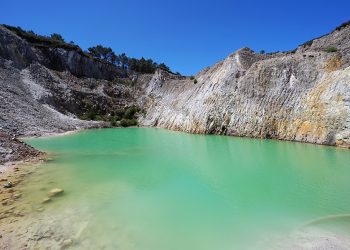
[[[158,71],[142,123],[191,133],[350,146],[350,26],[297,50],[244,48],[195,76]]]

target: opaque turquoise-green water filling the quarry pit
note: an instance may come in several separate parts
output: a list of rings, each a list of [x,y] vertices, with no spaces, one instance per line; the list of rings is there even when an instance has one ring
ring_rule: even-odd
[[[54,154],[26,184],[27,199],[35,206],[65,190],[41,216],[71,223],[75,248],[249,249],[350,213],[344,149],[149,128],[26,141]]]

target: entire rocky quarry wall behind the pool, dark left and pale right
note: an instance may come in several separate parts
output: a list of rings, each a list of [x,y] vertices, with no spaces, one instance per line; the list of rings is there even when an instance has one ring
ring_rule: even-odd
[[[105,126],[82,121],[138,105],[140,122],[191,133],[350,146],[350,26],[296,50],[240,49],[195,76],[125,72],[77,50],[31,44],[0,26],[0,130]],[[128,84],[126,84],[128,83]]]

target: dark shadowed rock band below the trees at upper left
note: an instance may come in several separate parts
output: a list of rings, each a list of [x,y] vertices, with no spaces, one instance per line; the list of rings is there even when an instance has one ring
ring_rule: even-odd
[[[69,71],[77,77],[114,80],[126,77],[126,72],[102,61],[88,57],[82,51],[42,44],[32,44],[0,25],[0,57],[24,69],[39,63],[48,69]]]

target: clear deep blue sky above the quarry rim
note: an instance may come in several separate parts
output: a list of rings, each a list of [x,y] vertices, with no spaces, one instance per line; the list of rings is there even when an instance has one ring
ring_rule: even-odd
[[[350,19],[350,0],[4,0],[0,23],[192,75],[241,47],[290,50]]]

